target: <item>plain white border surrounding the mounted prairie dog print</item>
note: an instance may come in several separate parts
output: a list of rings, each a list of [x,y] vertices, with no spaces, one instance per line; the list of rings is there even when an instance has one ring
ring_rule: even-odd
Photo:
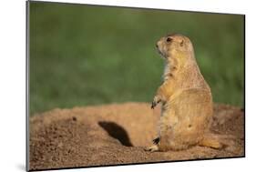
[[[60,0],[59,0],[60,1]],[[54,0],[52,1],[54,2]],[[58,2],[58,1],[57,1]],[[61,2],[120,5],[246,15],[246,158],[152,165],[97,167],[62,171],[242,171],[255,162],[255,5],[230,0],[66,0]],[[0,171],[24,171],[26,162],[26,3],[8,0],[0,9]],[[252,169],[253,169],[252,168]]]

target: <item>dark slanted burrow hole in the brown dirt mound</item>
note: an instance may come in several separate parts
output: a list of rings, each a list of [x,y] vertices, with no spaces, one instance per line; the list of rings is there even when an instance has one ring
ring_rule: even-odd
[[[114,122],[106,121],[100,121],[98,122],[98,125],[105,129],[110,137],[118,139],[123,146],[133,147],[130,143],[128,132],[124,129],[123,126],[119,126],[117,123]]]

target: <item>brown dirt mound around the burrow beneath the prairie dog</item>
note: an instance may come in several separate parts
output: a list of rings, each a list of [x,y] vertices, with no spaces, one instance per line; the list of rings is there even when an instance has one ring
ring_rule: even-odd
[[[157,136],[159,107],[147,103],[54,109],[30,118],[30,170],[244,156],[244,112],[215,105],[211,126],[232,135],[229,148],[147,152]]]

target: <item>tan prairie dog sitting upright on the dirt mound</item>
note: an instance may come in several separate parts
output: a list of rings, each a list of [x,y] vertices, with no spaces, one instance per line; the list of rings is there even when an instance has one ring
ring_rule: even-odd
[[[213,114],[210,86],[197,65],[191,41],[184,35],[167,35],[157,42],[165,60],[163,83],[151,108],[162,103],[159,137],[149,151],[181,150],[190,146],[220,148],[218,137],[210,134]]]

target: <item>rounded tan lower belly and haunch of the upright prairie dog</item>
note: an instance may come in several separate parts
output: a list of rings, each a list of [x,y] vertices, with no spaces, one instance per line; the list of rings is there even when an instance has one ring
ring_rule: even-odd
[[[162,107],[160,149],[183,149],[200,142],[212,116],[208,90],[192,88],[173,95]]]

